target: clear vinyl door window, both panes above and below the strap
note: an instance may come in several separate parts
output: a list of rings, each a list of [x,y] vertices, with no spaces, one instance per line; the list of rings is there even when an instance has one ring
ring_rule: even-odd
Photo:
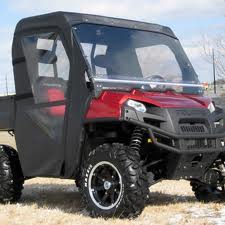
[[[27,114],[51,139],[61,142],[70,61],[57,33],[26,36],[22,41],[35,104]],[[56,105],[50,103],[55,102]]]

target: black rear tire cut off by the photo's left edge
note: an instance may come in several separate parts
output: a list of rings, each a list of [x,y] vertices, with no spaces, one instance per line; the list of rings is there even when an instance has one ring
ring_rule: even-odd
[[[8,146],[0,146],[0,202],[18,201],[22,194],[23,183],[18,153]]]

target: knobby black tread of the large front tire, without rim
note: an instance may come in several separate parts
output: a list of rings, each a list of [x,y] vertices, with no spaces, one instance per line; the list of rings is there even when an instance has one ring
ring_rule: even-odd
[[[126,184],[127,190],[124,191],[124,197],[122,200],[122,207],[118,207],[114,215],[105,215],[97,207],[93,209],[90,206],[89,201],[86,197],[86,192],[84,190],[84,181],[81,183],[81,194],[83,198],[83,203],[90,215],[93,217],[110,217],[117,216],[121,218],[133,218],[141,214],[145,207],[146,196],[148,194],[147,179],[143,175],[142,168],[139,162],[139,156],[136,153],[136,157],[130,154],[131,149],[123,144],[113,143],[103,144],[94,149],[89,153],[89,157],[84,160],[82,167],[82,177],[84,177],[86,168],[88,168],[90,159],[95,157],[102,152],[107,152],[110,158],[118,160],[120,166],[124,170],[123,179]]]

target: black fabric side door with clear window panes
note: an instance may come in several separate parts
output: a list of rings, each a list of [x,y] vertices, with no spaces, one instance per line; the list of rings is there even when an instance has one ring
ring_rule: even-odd
[[[60,35],[23,37],[33,96],[17,99],[16,142],[24,175],[58,177],[64,162],[70,60]]]

